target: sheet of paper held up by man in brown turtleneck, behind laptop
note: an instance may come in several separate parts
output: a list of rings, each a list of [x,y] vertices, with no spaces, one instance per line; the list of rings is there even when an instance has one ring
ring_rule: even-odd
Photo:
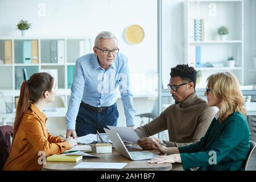
[[[139,139],[132,127],[108,126],[110,130],[119,134],[123,142],[137,143]]]

